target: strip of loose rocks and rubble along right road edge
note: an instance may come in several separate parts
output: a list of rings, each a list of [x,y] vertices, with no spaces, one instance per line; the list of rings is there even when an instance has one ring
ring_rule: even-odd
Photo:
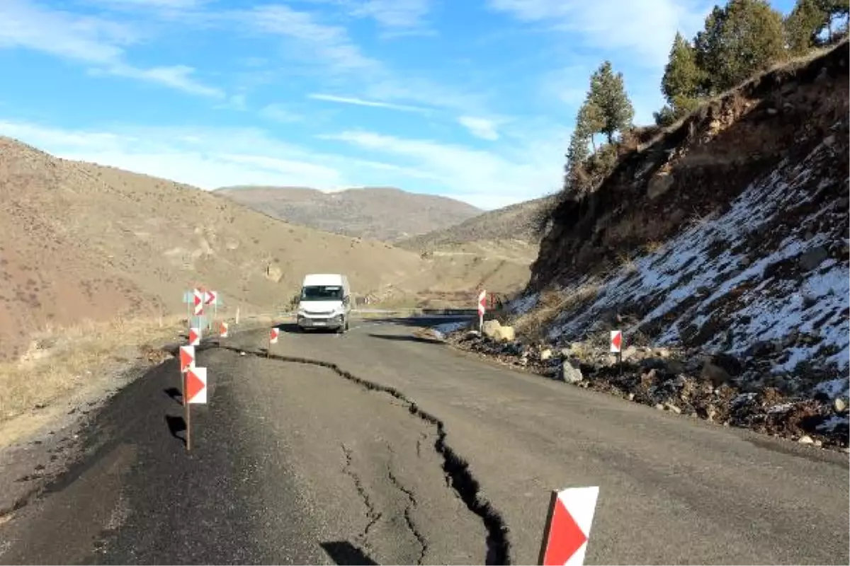
[[[751,371],[751,362],[693,349],[627,346],[618,364],[608,352],[607,332],[558,348],[516,339],[513,328],[497,321],[485,322],[483,334],[447,330],[445,339],[456,347],[546,378],[660,411],[850,453],[850,400],[833,398],[829,383],[821,384],[823,392],[813,396],[788,395],[775,387],[742,387],[736,381]]]

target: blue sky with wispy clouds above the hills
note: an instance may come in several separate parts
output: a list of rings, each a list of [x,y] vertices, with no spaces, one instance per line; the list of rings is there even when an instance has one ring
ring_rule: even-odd
[[[786,11],[791,0],[774,3]],[[0,135],[201,188],[558,189],[588,76],[639,123],[702,0],[2,0]]]

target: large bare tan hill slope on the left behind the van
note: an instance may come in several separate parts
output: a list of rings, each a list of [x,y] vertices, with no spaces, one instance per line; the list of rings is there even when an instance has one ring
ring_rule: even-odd
[[[416,283],[422,267],[388,244],[0,137],[0,356],[20,355],[48,323],[184,312],[184,289],[196,283],[244,311],[285,305],[305,272],[347,272],[367,293]]]

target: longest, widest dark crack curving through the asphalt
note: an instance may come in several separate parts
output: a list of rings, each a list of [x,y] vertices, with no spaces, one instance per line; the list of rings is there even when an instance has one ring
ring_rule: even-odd
[[[501,513],[496,510],[489,501],[481,496],[481,485],[469,469],[469,463],[447,444],[445,424],[441,419],[422,410],[422,408],[416,404],[416,401],[412,401],[398,389],[359,378],[353,373],[349,373],[337,366],[337,364],[329,361],[313,360],[310,358],[296,356],[280,356],[278,354],[271,354],[266,350],[246,350],[244,348],[220,344],[211,344],[210,347],[233,351],[237,354],[244,352],[251,356],[259,356],[269,360],[326,367],[332,372],[337,373],[340,377],[348,379],[348,381],[358,384],[367,390],[391,395],[395,399],[401,401],[412,415],[419,417],[422,421],[437,429],[437,439],[434,441],[433,446],[434,450],[437,451],[439,456],[443,459],[443,472],[450,483],[450,487],[455,490],[457,496],[460,497],[467,509],[481,518],[484,523],[484,528],[487,530],[486,564],[488,566],[509,566],[511,564],[510,539],[507,523],[501,516]]]

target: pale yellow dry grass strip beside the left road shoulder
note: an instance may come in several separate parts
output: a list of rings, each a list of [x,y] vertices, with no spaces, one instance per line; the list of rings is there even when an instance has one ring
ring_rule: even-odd
[[[119,319],[33,335],[20,360],[0,363],[0,422],[70,395],[130,356],[153,353],[183,324],[181,317]]]

